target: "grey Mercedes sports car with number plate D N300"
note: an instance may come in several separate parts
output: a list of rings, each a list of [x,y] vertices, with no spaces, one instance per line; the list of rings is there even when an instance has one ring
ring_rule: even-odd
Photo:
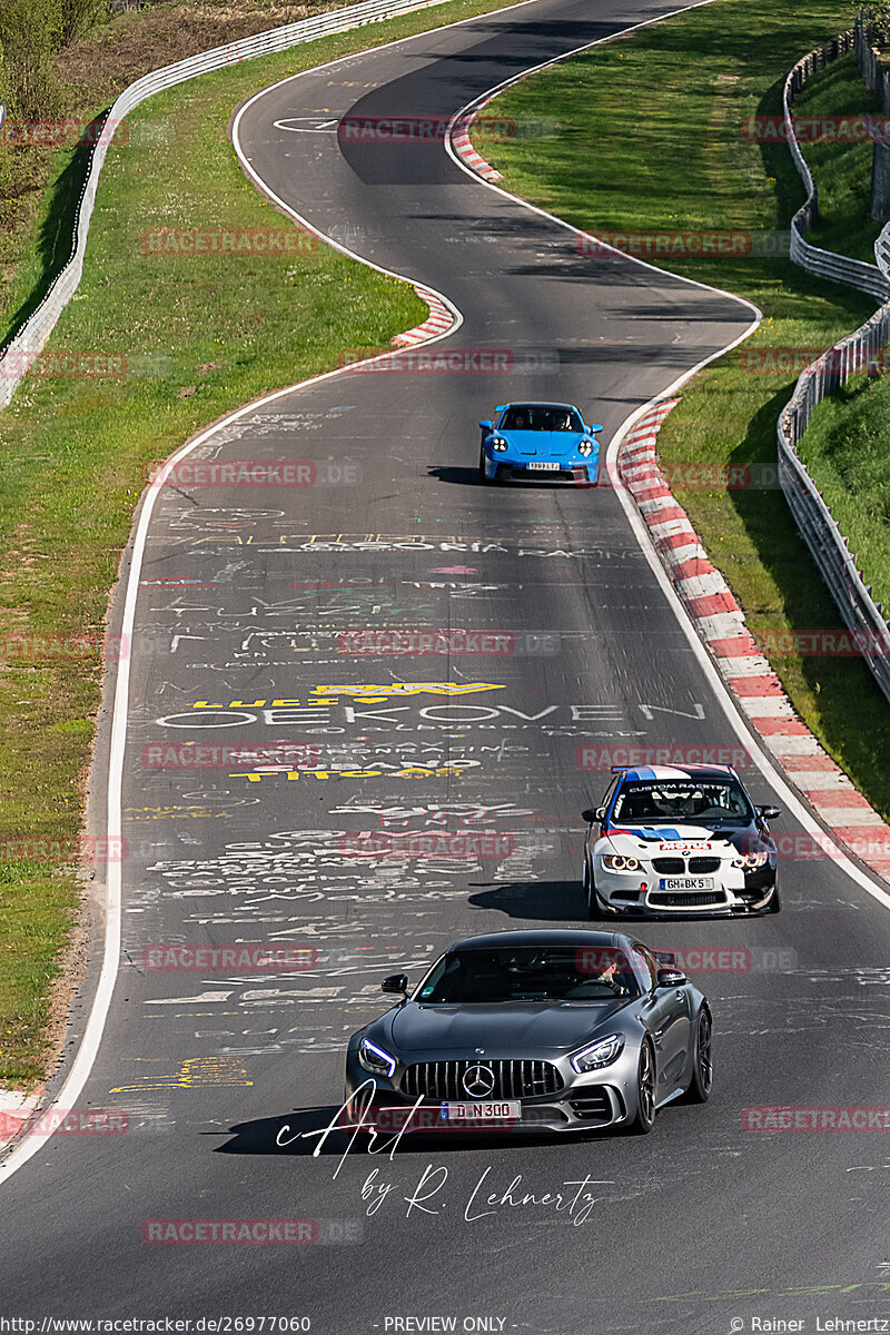
[[[350,1039],[350,1127],[646,1133],[711,1091],[707,1000],[630,936],[471,936],[382,988],[402,1000]]]

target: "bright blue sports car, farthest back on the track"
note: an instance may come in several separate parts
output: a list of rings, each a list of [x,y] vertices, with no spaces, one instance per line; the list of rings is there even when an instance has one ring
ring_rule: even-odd
[[[480,422],[483,482],[563,482],[596,486],[602,426],[586,426],[571,403],[499,403]]]

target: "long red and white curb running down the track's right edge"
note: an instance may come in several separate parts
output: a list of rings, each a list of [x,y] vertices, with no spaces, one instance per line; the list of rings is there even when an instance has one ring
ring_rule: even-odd
[[[678,403],[678,398],[664,399],[635,423],[620,450],[620,479],[695,629],[765,748],[833,836],[890,881],[890,826],[795,713],[726,579],[709,561],[686,510],[664,481],[655,443],[662,422]]]

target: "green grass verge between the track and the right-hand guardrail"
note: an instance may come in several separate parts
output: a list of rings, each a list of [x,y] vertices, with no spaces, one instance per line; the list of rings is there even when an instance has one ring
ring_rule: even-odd
[[[511,116],[518,127],[551,117],[559,132],[522,139],[519,129],[514,140],[480,142],[479,148],[508,190],[595,235],[787,230],[803,202],[789,150],[751,143],[741,127],[751,116],[781,116],[787,71],[849,21],[837,0],[721,0],[507,89],[488,115]],[[822,80],[831,83],[833,73],[817,76],[809,100],[822,96]],[[862,105],[857,88],[851,109]],[[845,207],[841,191],[838,206]],[[596,259],[590,263],[594,279]],[[667,418],[659,453],[674,490],[755,634],[837,627],[838,613],[779,490],[695,490],[677,478],[690,462],[714,465],[718,477],[731,465],[774,465],[777,419],[795,372],[753,368],[770,364],[763,354],[775,366],[779,348],[815,354],[829,347],[874,303],[786,259],[673,256],[666,267],[743,295],[763,311],[743,348],[695,376]],[[865,663],[769,657],[807,725],[890,814],[887,702]]]

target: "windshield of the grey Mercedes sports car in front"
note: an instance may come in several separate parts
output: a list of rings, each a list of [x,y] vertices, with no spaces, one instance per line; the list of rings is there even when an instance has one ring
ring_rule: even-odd
[[[604,1001],[640,995],[630,960],[614,948],[523,947],[450,951],[415,995],[424,1005]]]

